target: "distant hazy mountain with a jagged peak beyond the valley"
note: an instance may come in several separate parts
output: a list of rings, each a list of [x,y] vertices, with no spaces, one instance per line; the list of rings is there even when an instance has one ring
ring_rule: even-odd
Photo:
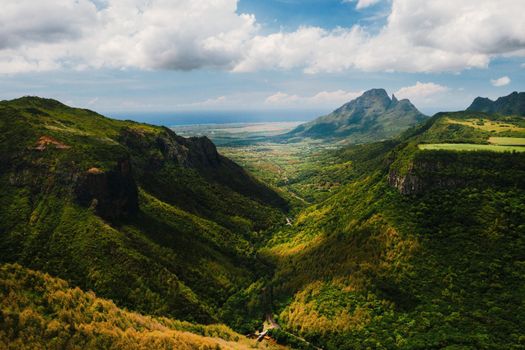
[[[409,100],[392,99],[384,89],[372,89],[332,113],[299,125],[281,138],[346,138],[352,143],[377,141],[399,135],[425,116]]]

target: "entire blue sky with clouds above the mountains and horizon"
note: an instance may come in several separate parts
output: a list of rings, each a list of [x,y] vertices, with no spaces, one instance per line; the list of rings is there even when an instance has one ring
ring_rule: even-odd
[[[306,120],[370,88],[427,114],[525,90],[523,0],[0,4],[0,99],[191,122]]]

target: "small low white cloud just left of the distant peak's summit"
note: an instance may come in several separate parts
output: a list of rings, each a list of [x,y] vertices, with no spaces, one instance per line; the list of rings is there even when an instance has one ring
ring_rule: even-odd
[[[351,101],[360,95],[362,91],[321,91],[313,96],[299,96],[294,94],[287,94],[284,92],[277,92],[268,96],[265,104],[273,106],[338,106]]]

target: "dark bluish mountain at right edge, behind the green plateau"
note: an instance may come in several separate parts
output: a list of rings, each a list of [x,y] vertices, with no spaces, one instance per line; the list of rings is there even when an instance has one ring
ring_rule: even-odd
[[[467,111],[525,116],[525,92],[514,91],[496,101],[486,97],[476,97]]]

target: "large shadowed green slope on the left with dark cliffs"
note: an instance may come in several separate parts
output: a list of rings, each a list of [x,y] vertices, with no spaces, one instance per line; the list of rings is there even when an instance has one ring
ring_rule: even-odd
[[[199,322],[264,273],[286,206],[206,138],[33,97],[0,103],[0,187],[2,262]]]

